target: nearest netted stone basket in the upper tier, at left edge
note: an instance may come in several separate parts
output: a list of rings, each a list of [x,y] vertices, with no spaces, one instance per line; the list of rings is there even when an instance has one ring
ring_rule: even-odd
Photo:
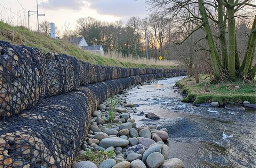
[[[0,118],[35,106],[47,87],[48,72],[39,49],[0,41]]]

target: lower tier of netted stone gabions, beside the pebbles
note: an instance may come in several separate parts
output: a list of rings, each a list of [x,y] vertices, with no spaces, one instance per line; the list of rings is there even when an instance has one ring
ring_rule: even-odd
[[[112,79],[44,98],[35,107],[1,124],[0,164],[9,167],[69,168],[88,132],[91,112],[110,95],[159,77],[161,73]]]

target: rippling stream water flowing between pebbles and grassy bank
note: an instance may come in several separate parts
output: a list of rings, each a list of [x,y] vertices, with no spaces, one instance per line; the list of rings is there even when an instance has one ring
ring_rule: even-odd
[[[153,112],[160,120],[135,116],[138,126],[168,129],[169,158],[179,158],[184,168],[255,167],[255,111],[195,107],[182,103],[171,87],[183,77],[173,77],[133,88],[127,101],[138,110]]]

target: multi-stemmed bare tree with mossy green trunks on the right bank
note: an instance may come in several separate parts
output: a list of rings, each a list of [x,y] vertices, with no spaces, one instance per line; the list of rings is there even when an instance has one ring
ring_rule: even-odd
[[[254,7],[253,0],[145,0],[151,10],[157,11],[162,17],[179,23],[179,30],[184,31],[187,24],[197,26],[193,31],[188,32],[187,37],[179,44],[188,39],[194,32],[203,29],[207,40],[211,62],[213,65],[214,77],[218,80],[226,79],[235,81],[255,75],[255,66],[252,61],[255,52],[255,14],[251,13],[250,7]],[[245,8],[246,7],[246,8]],[[238,11],[242,9],[243,13]],[[251,33],[247,42],[246,53],[242,64],[239,61],[237,36],[235,32],[235,18],[254,18],[251,26]],[[214,34],[211,23],[215,25],[218,34]],[[226,37],[226,31],[228,37]],[[214,37],[221,43],[221,59],[219,58]],[[228,43],[227,39],[228,38]]]

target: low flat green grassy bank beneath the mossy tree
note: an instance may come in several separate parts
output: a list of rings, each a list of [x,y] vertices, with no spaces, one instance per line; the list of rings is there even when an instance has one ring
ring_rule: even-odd
[[[202,102],[217,101],[220,105],[222,105],[223,103],[242,103],[246,100],[250,103],[255,103],[255,82],[243,84],[242,81],[237,81],[226,84],[210,84],[210,92],[205,92],[205,87],[202,83],[206,76],[207,75],[201,76],[199,84],[195,83],[195,79],[193,77],[183,78],[176,83],[176,85],[181,87],[182,93],[186,93],[187,95],[187,97],[182,100],[183,102],[194,100],[193,103],[198,104]],[[209,82],[210,79],[207,78],[206,84]],[[240,89],[235,89],[235,86],[239,86]]]

